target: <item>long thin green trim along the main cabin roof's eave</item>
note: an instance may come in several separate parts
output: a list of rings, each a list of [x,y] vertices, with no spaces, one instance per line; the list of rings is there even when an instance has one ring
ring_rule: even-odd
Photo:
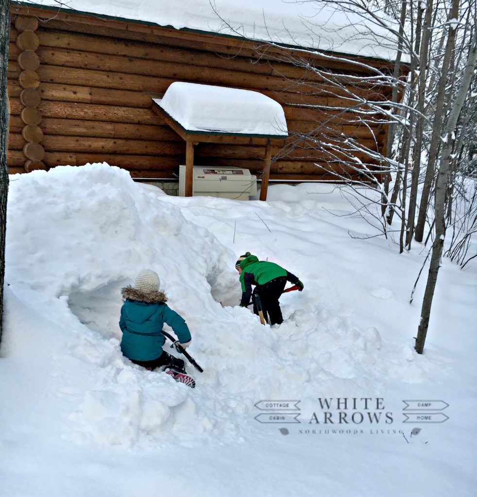
[[[75,10],[73,8],[66,8],[66,7],[57,7],[53,5],[42,5],[40,3],[34,3],[34,2],[25,2],[25,1],[16,1],[16,0],[10,0],[12,5],[21,5],[25,7],[36,7],[36,8],[41,8],[44,10],[53,10],[55,12],[64,12],[64,13],[70,13],[70,14],[79,14],[79,15],[90,15],[92,17],[97,17],[99,19],[106,19],[106,20],[112,20],[112,21],[125,21],[125,22],[131,22],[134,24],[145,24],[146,26],[155,26],[155,27],[160,27],[160,28],[166,28],[166,29],[174,29],[176,31],[185,31],[189,33],[196,33],[196,34],[207,34],[207,35],[213,35],[213,36],[220,36],[223,38],[230,38],[233,40],[245,40],[245,41],[252,41],[252,42],[260,42],[260,43],[271,43],[273,45],[277,45],[282,48],[292,48],[292,49],[302,49],[306,51],[311,51],[311,52],[316,52],[318,53],[318,49],[313,48],[313,47],[304,47],[301,45],[290,45],[286,43],[277,43],[277,42],[270,42],[266,40],[259,40],[259,39],[254,39],[254,38],[247,38],[245,36],[238,36],[238,35],[231,35],[231,34],[224,34],[224,33],[216,33],[214,31],[203,31],[201,29],[192,29],[192,28],[176,28],[171,25],[161,25],[158,24],[157,22],[150,22],[150,21],[143,21],[139,19],[128,19],[127,17],[116,17],[113,15],[107,15],[107,14],[96,14],[95,12],[87,12],[83,10]],[[99,1],[99,0],[98,0]],[[348,54],[345,52],[335,52],[331,50],[321,50],[321,52],[325,54],[334,54],[334,55],[341,55],[344,57],[356,57],[359,59],[369,59],[369,60],[375,60],[375,61],[384,61],[384,62],[394,62],[390,61],[387,59],[383,59],[382,57],[373,57],[373,56],[368,56],[368,55],[356,55],[356,54]],[[407,65],[401,62],[402,65]]]

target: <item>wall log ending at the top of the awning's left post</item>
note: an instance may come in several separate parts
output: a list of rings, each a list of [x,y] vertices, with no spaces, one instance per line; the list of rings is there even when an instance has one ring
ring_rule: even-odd
[[[185,153],[186,144],[145,140],[121,140],[116,138],[88,138],[74,136],[44,135],[42,144],[49,152],[75,152],[94,154],[128,154],[177,156]]]

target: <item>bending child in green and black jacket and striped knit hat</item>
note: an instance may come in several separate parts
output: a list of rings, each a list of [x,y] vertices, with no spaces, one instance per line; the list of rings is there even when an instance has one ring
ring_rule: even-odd
[[[268,323],[268,316],[270,316],[270,325],[283,323],[279,298],[285,289],[286,282],[296,285],[300,292],[303,290],[303,283],[282,266],[275,262],[259,261],[258,257],[250,252],[238,258],[235,268],[240,274],[239,281],[242,285],[240,306],[247,307],[252,297],[253,311],[258,315],[256,302],[256,295],[258,295],[265,321]],[[252,285],[255,285],[253,293]]]

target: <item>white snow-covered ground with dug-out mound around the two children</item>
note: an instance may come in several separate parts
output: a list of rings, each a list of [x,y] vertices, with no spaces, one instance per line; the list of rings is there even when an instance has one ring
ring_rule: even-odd
[[[363,238],[330,185],[263,203],[170,197],[107,165],[10,178],[0,496],[475,495],[475,264],[443,259],[419,356],[427,249]],[[246,250],[305,285],[279,327],[237,305]],[[120,288],[145,267],[191,329],[194,390],[119,350]],[[259,422],[285,400],[300,423]],[[404,400],[448,419],[403,422]]]

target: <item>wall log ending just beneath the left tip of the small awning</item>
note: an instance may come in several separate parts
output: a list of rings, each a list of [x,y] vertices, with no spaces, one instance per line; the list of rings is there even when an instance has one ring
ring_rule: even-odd
[[[163,123],[161,118],[150,109],[46,100],[41,101],[38,109],[42,112],[44,117],[136,124]]]

